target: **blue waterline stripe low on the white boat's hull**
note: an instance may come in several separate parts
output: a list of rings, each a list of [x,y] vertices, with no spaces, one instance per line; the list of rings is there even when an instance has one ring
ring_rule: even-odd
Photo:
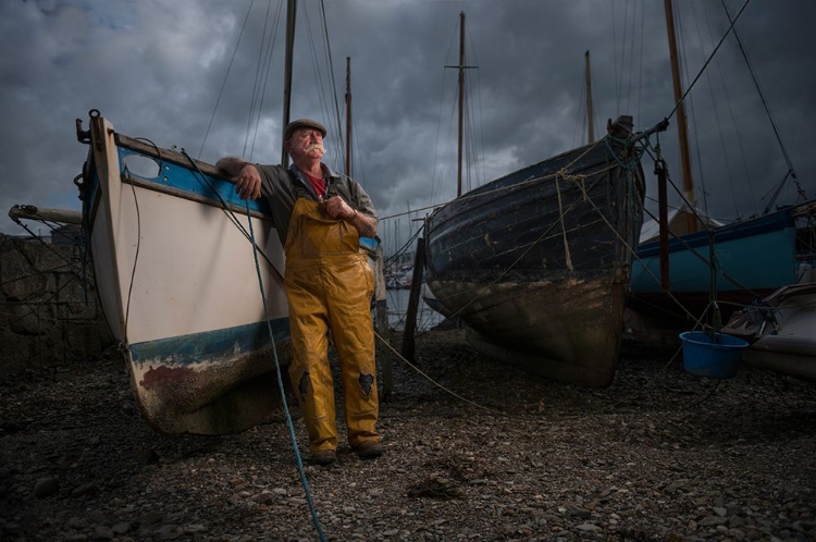
[[[289,338],[288,318],[270,321],[275,342]],[[188,366],[257,352],[269,345],[265,322],[147,341],[129,345],[134,364],[161,361],[162,365]]]

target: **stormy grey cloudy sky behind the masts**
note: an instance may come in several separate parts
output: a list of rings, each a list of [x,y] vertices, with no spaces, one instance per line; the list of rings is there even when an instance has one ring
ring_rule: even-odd
[[[735,29],[749,62],[730,34],[685,100],[698,205],[725,221],[762,212],[790,167],[796,178],[788,177],[776,204],[795,202],[798,188],[816,197],[816,152],[809,148],[816,3],[745,3],[676,0],[675,7],[685,87],[726,34],[727,11],[735,17],[742,10]],[[81,208],[72,180],[88,149],[76,140],[75,119],[87,127],[91,109],[119,132],[211,163],[225,155],[280,162],[285,5],[0,2],[0,232],[25,234],[5,214],[15,204]],[[659,1],[298,5],[292,118],[329,126],[326,161],[342,169],[350,58],[351,173],[380,215],[394,217],[381,225],[386,249],[405,241],[408,223],[418,223],[409,220],[456,194],[458,70],[446,66],[459,62],[460,12],[466,64],[472,66],[466,70],[466,190],[586,143],[585,51],[596,136],[609,118],[631,114],[643,128],[675,109]],[[659,144],[679,185],[676,120]],[[651,210],[653,165],[644,155]],[[406,215],[408,210],[415,212]],[[395,222],[400,225],[393,227]]]

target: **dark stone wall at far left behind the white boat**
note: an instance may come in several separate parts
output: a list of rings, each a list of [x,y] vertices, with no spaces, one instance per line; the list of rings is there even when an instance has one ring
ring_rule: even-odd
[[[100,357],[114,341],[73,245],[0,234],[0,377]]]

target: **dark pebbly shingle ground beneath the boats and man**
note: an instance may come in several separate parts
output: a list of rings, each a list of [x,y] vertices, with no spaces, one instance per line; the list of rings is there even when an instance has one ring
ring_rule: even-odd
[[[308,493],[281,416],[160,435],[119,359],[28,372],[0,382],[0,539],[816,540],[816,384],[701,379],[672,354],[626,344],[586,390],[425,333],[444,389],[395,361],[386,455],[307,463]]]

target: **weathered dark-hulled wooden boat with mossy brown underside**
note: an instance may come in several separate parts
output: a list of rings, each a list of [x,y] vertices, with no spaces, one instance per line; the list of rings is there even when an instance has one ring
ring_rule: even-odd
[[[428,286],[478,349],[552,379],[611,382],[644,198],[622,126],[429,218]]]

